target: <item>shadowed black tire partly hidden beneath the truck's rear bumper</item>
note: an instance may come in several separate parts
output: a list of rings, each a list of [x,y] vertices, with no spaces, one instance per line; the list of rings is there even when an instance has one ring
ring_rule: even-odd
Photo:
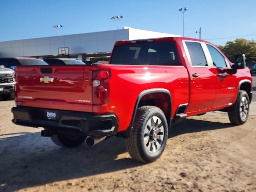
[[[74,148],[81,145],[86,137],[84,136],[66,136],[62,134],[52,135],[52,142],[60,147]]]

